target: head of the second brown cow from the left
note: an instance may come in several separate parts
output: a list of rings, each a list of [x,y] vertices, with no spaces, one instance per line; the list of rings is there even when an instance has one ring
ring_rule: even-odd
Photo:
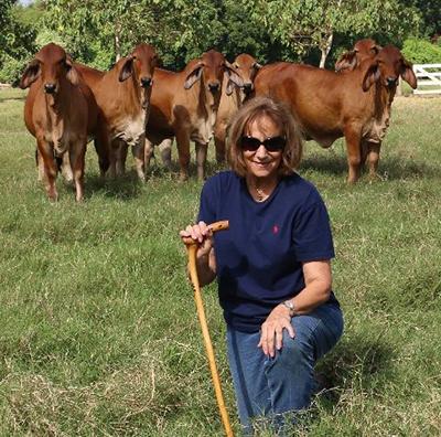
[[[159,58],[151,44],[139,44],[120,62],[119,82],[133,76],[141,88],[149,88],[153,84],[153,72]]]

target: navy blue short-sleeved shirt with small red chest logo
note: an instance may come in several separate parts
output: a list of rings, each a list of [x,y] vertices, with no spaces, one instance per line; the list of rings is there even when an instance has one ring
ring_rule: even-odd
[[[239,331],[259,331],[277,305],[304,288],[302,262],[334,257],[323,200],[297,173],[265,202],[251,198],[244,178],[217,173],[202,190],[198,220],[229,221],[214,235],[217,283],[225,320]]]

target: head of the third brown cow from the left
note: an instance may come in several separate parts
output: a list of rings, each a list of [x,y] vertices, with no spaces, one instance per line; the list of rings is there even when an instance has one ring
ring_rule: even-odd
[[[237,86],[244,84],[232,64],[225,60],[222,53],[215,50],[205,52],[198,60],[191,61],[185,70],[189,71],[184,83],[185,89],[191,88],[197,81],[202,81],[209,93],[219,96],[224,73]]]

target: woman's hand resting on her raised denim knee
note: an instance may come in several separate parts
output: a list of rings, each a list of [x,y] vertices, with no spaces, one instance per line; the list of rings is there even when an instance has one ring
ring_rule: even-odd
[[[258,347],[266,355],[271,358],[276,354],[276,349],[282,349],[283,329],[293,339],[295,335],[291,324],[290,311],[282,303],[278,305],[268,316],[261,326],[260,341]]]

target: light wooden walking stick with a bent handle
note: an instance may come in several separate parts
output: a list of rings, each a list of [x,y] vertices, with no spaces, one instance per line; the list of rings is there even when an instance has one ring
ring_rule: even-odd
[[[208,227],[213,232],[227,230],[228,221],[215,222],[215,223],[212,223],[211,225],[208,225]],[[204,338],[205,352],[207,354],[209,370],[212,372],[212,379],[213,379],[214,391],[216,393],[217,406],[219,407],[220,418],[222,418],[222,423],[224,424],[225,434],[227,435],[227,437],[234,437],[232,426],[229,425],[228,413],[225,407],[224,396],[222,394],[220,379],[219,379],[219,374],[218,374],[217,367],[216,367],[213,344],[212,344],[212,340],[209,338],[208,326],[207,326],[207,321],[206,321],[206,317],[205,317],[204,302],[203,302],[202,296],[201,296],[200,279],[197,276],[197,267],[196,267],[196,252],[197,252],[198,244],[191,237],[183,238],[183,241],[187,248],[190,279],[191,279],[193,288],[194,288],[194,300],[196,302],[197,317],[200,318],[202,335]]]

